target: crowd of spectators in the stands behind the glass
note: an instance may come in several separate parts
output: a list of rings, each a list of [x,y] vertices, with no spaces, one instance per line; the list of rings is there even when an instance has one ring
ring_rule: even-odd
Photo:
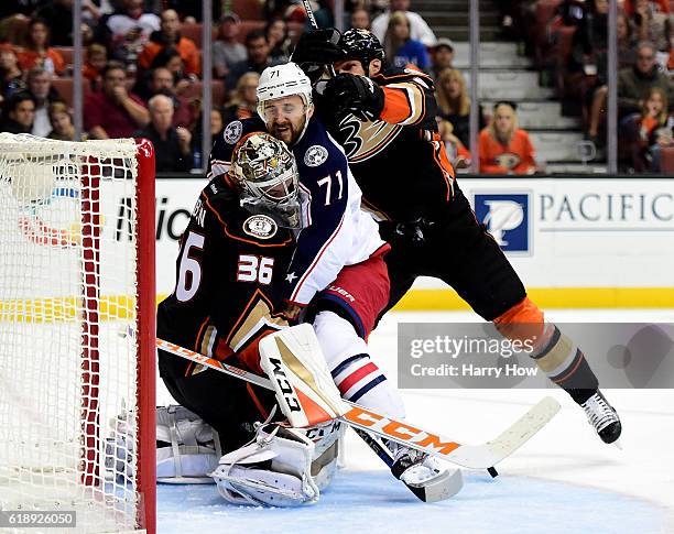
[[[410,0],[345,3],[347,28],[372,31],[391,63],[434,78],[442,138],[455,166],[467,167],[470,99],[465,75],[453,65],[454,43],[437,39]],[[521,52],[535,59],[542,81],[557,88],[567,111],[575,105],[570,112],[583,117],[586,137],[601,157],[608,0],[497,3],[502,37],[517,41]],[[73,0],[0,2],[0,131],[74,140],[73,4]],[[240,9],[247,4],[256,4],[262,17],[247,19]],[[335,24],[329,0],[312,4],[322,26]],[[619,4],[620,155],[626,168],[657,172],[661,149],[674,144],[670,2]],[[84,0],[83,10],[83,139],[142,135],[157,149],[157,172],[200,167],[200,1]],[[289,59],[307,21],[298,0],[216,0],[213,15],[209,113],[211,134],[217,135],[228,122],[256,112],[260,73]],[[499,101],[478,109],[480,172],[539,171],[534,146],[518,126],[517,103]]]

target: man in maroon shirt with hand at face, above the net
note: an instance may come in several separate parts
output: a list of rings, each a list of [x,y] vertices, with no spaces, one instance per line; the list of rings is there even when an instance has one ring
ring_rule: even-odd
[[[119,62],[109,62],[102,87],[84,102],[85,129],[93,139],[128,138],[150,122],[143,101],[127,90],[127,72]]]

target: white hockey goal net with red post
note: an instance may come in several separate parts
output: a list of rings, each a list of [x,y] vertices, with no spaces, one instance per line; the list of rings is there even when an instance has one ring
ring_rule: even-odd
[[[154,151],[0,133],[0,509],[155,532]]]

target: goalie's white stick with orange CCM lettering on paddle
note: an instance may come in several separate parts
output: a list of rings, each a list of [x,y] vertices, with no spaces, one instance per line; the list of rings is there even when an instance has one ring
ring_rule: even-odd
[[[160,338],[156,339],[156,346],[166,352],[200,363],[209,369],[273,390],[269,379],[244,369],[229,366]],[[344,402],[350,406],[350,410],[339,419],[347,425],[468,469],[489,469],[508,458],[543,428],[559,411],[557,401],[546,396],[494,439],[481,445],[463,445],[439,434],[395,421],[351,402]]]

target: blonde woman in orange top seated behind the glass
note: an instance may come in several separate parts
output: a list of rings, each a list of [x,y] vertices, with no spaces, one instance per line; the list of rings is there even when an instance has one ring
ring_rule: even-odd
[[[493,121],[480,132],[480,173],[533,174],[534,148],[529,134],[518,128],[513,102],[497,102]]]

